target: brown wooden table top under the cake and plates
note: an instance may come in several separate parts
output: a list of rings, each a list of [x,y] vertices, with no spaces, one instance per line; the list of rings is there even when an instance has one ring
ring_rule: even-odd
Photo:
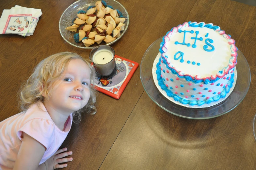
[[[71,46],[59,33],[59,18],[73,2],[0,3],[0,14],[15,5],[43,12],[33,36],[0,36],[0,121],[19,113],[17,92],[42,59],[63,51],[89,57],[89,50]],[[73,151],[73,161],[65,169],[255,170],[256,7],[230,0],[119,2],[127,9],[130,24],[112,45],[116,54],[140,64],[147,48],[172,27],[188,21],[214,23],[232,35],[245,55],[251,85],[245,99],[228,114],[206,120],[185,119],[164,111],[149,98],[138,68],[119,100],[98,93],[97,113],[85,115],[81,123],[72,125],[62,145]]]

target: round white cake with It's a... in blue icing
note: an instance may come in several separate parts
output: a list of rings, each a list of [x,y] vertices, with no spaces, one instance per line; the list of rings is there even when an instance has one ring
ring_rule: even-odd
[[[237,48],[219,26],[185,22],[160,44],[158,85],[182,104],[210,104],[225,98],[234,83]]]

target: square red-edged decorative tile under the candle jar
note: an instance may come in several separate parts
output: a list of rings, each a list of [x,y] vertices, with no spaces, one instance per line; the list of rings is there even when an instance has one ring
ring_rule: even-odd
[[[115,55],[115,61],[117,65],[116,74],[108,79],[96,76],[91,85],[93,84],[96,90],[119,99],[139,64],[118,55]]]

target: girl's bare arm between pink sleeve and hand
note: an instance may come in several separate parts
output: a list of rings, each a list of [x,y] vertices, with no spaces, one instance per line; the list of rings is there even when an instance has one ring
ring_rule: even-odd
[[[22,134],[23,142],[13,170],[36,170],[38,168],[46,170],[44,163],[38,166],[46,148],[28,134],[24,132]]]

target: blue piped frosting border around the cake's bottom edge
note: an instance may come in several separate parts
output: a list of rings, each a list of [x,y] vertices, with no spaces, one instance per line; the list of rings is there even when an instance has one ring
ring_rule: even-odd
[[[167,93],[167,96],[172,97],[175,101],[179,101],[182,104],[189,104],[191,106],[194,105],[203,105],[203,104],[210,104],[212,101],[218,101],[220,98],[225,98],[227,93],[230,92],[230,88],[233,86],[234,83],[234,73],[232,73],[231,78],[228,82],[228,86],[224,88],[224,90],[219,94],[212,98],[206,99],[206,100],[186,100],[184,98],[181,98],[180,96],[173,94],[171,90],[168,89],[168,87],[164,84],[163,78],[161,77],[161,58],[159,58],[159,62],[156,64],[156,74],[157,74],[157,80],[158,85],[161,87],[162,90],[165,90]]]

